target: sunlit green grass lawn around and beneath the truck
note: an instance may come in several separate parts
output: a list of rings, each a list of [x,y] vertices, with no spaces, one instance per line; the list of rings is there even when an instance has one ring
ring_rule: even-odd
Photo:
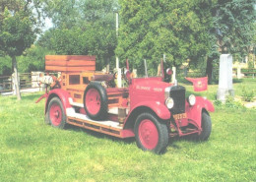
[[[256,80],[235,83],[238,95],[242,87]],[[200,94],[213,100],[217,89]],[[256,181],[256,109],[218,104],[209,141],[174,138],[157,155],[134,140],[45,125],[40,94],[0,96],[0,181]]]

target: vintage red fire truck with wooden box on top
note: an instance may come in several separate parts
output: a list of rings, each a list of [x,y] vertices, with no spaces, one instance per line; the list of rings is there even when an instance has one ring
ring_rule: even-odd
[[[115,74],[96,72],[96,56],[46,55],[45,122],[56,128],[75,125],[117,138],[135,137],[143,151],[164,152],[170,137],[207,140],[212,131],[208,99],[177,83],[156,77],[133,78],[126,62],[127,87],[115,87]],[[50,75],[57,73],[58,75]],[[47,90],[47,88],[49,90]]]

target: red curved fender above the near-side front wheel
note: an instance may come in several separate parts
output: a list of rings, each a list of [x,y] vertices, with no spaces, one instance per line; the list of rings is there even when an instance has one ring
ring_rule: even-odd
[[[140,102],[139,104],[135,105],[133,110],[136,110],[136,108],[139,107],[148,107],[151,110],[153,110],[159,117],[160,119],[166,120],[170,118],[170,112],[167,109],[167,107],[163,104],[161,104],[159,101],[144,101]]]

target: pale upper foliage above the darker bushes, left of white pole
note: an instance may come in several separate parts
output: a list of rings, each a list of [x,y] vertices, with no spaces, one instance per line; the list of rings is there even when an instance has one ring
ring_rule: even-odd
[[[85,24],[109,22],[112,20],[112,9],[116,0],[45,0],[44,12],[51,18],[54,27],[59,29],[72,29]],[[113,25],[114,26],[114,25]]]

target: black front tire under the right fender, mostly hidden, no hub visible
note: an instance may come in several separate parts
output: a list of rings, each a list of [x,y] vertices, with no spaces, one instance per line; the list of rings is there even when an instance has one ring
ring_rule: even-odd
[[[193,139],[196,141],[207,141],[211,135],[212,132],[212,120],[210,115],[206,112],[202,112],[202,132],[199,135],[194,135]]]

